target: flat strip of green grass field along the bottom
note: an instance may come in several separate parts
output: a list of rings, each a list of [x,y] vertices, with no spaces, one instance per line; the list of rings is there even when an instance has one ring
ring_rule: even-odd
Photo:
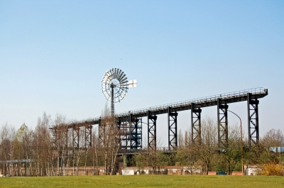
[[[0,187],[284,187],[284,177],[135,175],[3,177]]]

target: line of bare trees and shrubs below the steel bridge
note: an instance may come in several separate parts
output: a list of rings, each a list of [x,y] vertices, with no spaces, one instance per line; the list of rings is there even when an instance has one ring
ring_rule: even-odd
[[[178,148],[174,153],[157,148],[143,149],[135,155],[119,156],[121,136],[123,130],[117,128],[116,118],[105,107],[102,112],[99,131],[92,131],[92,146],[84,142],[84,129],[78,129],[77,148],[70,147],[72,133],[62,127],[56,136],[50,127],[66,123],[65,116],[57,115],[52,118],[43,113],[38,118],[34,129],[23,125],[16,130],[5,123],[0,129],[0,170],[7,176],[65,176],[78,175],[78,168],[92,167],[93,175],[113,175],[119,171],[119,162],[124,166],[135,166],[138,169],[151,167],[152,172],[161,166],[202,166],[204,172],[209,171],[241,171],[241,159],[244,164],[257,164],[264,169],[278,169],[283,173],[283,153],[274,153],[270,147],[284,146],[283,132],[271,129],[259,140],[258,145],[249,148],[249,140],[244,138],[241,151],[241,133],[238,125],[229,126],[226,147],[220,150],[217,138],[217,123],[214,118],[206,117],[202,120],[202,135],[199,142],[191,139],[189,131],[179,131]],[[243,131],[244,133],[244,131]],[[82,137],[82,138],[81,138]],[[70,144],[71,143],[71,144]],[[282,171],[281,171],[282,170]],[[276,172],[275,172],[276,173]],[[269,173],[268,173],[269,175]],[[282,174],[283,175],[283,174]]]

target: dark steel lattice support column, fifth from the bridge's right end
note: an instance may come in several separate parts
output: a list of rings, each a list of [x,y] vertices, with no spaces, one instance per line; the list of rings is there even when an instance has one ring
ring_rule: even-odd
[[[155,150],[156,143],[156,125],[157,116],[151,115],[151,111],[148,111],[148,148]]]

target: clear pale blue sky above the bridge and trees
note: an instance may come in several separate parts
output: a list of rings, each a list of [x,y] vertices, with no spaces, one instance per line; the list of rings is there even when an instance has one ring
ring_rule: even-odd
[[[283,33],[284,1],[0,1],[0,126],[100,116],[117,67],[138,80],[117,112],[264,87],[260,133],[284,132]],[[246,102],[229,109],[247,129]],[[190,127],[190,111],[178,118]]]

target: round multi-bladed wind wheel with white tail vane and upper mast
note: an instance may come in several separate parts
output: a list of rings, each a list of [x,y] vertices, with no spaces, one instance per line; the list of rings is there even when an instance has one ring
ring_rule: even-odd
[[[102,94],[111,102],[111,115],[114,115],[114,103],[122,101],[129,87],[136,87],[136,79],[127,81],[126,74],[117,68],[112,68],[104,73],[102,78]]]

